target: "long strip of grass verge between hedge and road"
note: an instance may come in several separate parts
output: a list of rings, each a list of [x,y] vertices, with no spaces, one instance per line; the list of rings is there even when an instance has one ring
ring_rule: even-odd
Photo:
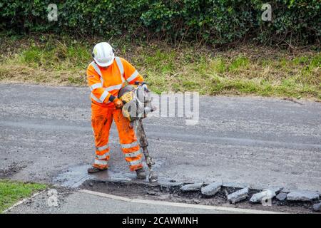
[[[96,40],[41,35],[0,37],[0,82],[86,86]],[[111,40],[156,93],[263,95],[321,100],[320,51],[242,45],[227,51],[182,43],[133,44]]]

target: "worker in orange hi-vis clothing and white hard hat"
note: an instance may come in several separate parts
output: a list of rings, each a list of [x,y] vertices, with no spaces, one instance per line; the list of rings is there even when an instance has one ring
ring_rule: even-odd
[[[109,43],[97,43],[92,52],[93,62],[87,68],[88,86],[91,88],[91,126],[95,139],[96,157],[89,173],[108,169],[108,160],[111,157],[108,143],[109,130],[113,120],[119,135],[121,150],[128,162],[129,169],[139,179],[146,178],[143,169],[141,148],[133,127],[123,116],[122,100],[117,98],[118,91],[136,81],[143,82],[143,77],[136,69],[121,57],[116,57]]]

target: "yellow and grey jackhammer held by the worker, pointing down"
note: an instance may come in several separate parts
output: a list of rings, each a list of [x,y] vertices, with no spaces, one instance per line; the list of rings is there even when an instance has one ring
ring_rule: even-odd
[[[122,108],[123,116],[130,121],[137,135],[139,145],[143,150],[146,165],[149,170],[148,180],[149,182],[156,182],[158,177],[153,170],[155,161],[148,152],[148,142],[142,121],[148,113],[156,110],[156,107],[151,104],[153,98],[146,87],[146,83],[136,81],[135,85],[136,86],[128,85],[121,88],[118,92],[118,98],[121,99],[124,104]]]

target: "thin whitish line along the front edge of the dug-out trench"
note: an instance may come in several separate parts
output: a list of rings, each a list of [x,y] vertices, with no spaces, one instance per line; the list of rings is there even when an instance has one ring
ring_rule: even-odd
[[[250,214],[280,214],[281,213],[281,212],[271,212],[271,211],[263,211],[263,210],[257,210],[257,209],[218,207],[218,206],[209,206],[209,205],[200,205],[200,204],[185,204],[185,203],[178,203],[178,202],[166,202],[166,201],[149,200],[149,199],[131,199],[128,197],[119,197],[116,195],[110,195],[102,192],[94,192],[90,190],[78,190],[78,192],[105,197],[108,199],[116,199],[116,200],[121,200],[126,202],[135,202],[140,204],[154,204],[154,205],[163,205],[163,206],[171,206],[171,207],[188,207],[188,208],[195,208],[195,209],[210,209],[215,211],[250,213]]]

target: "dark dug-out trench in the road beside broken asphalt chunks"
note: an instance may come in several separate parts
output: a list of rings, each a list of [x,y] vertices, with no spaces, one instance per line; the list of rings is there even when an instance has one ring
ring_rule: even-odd
[[[183,183],[168,182],[167,184],[148,183],[148,182],[126,182],[126,181],[93,181],[86,180],[80,186],[82,189],[95,192],[103,192],[111,195],[118,195],[136,199],[153,199],[168,202],[183,202],[188,204],[203,204],[222,207],[239,207],[246,209],[260,209],[275,212],[290,213],[312,213],[313,202],[280,202],[278,199],[272,199],[272,206],[263,206],[262,204],[253,204],[248,200],[250,197],[260,192],[260,190],[251,189],[248,199],[238,204],[230,204],[227,201],[227,195],[239,190],[235,187],[222,187],[213,197],[205,197],[200,191],[182,192],[180,187]]]

